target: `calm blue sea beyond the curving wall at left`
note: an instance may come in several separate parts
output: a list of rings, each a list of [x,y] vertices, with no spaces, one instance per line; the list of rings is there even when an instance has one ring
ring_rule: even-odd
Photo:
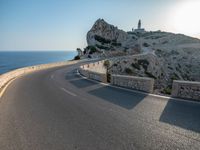
[[[72,60],[76,51],[0,51],[0,74],[14,69]]]

